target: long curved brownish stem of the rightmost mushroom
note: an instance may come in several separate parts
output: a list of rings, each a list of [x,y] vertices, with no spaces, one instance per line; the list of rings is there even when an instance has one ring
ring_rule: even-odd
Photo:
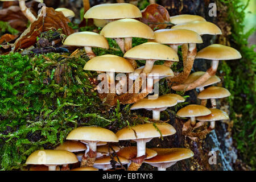
[[[207,70],[207,72],[204,73],[200,78],[198,78],[196,81],[190,83],[190,84],[181,84],[172,86],[172,89],[176,91],[188,91],[197,88],[201,84],[203,84],[205,81],[207,81],[210,77],[214,76],[218,68],[218,60],[212,60],[212,66]]]

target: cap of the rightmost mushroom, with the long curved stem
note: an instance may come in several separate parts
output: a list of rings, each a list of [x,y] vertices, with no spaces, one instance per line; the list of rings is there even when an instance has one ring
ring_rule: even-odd
[[[209,60],[233,60],[240,59],[241,57],[241,53],[236,49],[229,46],[223,46],[221,44],[212,44],[205,47],[196,55],[196,59]]]

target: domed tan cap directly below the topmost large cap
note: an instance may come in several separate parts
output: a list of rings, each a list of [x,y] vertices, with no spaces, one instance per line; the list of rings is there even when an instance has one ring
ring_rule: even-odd
[[[154,39],[154,31],[146,24],[135,19],[120,19],[108,23],[101,30],[105,38],[144,38]]]

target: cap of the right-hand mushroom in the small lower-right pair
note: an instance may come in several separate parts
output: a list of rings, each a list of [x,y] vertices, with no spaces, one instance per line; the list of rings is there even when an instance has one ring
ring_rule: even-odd
[[[220,110],[220,109],[210,109],[211,113],[209,115],[204,115],[200,117],[196,117],[198,121],[221,121],[229,119],[229,115]]]

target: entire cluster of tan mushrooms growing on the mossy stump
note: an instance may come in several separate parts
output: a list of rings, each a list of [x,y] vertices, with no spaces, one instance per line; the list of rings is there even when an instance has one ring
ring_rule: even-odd
[[[65,9],[57,11],[69,18],[73,16]],[[184,97],[175,94],[175,91],[200,91],[197,98],[201,100],[201,105],[187,105],[176,113],[177,117],[189,118],[183,124],[182,131],[192,140],[199,140],[202,135],[212,131],[215,121],[229,118],[224,111],[216,109],[216,98],[228,97],[230,93],[225,88],[212,85],[220,82],[215,75],[218,61],[240,59],[241,55],[236,49],[220,44],[212,44],[199,52],[196,47],[196,44],[203,43],[202,35],[219,35],[220,28],[201,16],[177,15],[170,17],[170,22],[175,26],[154,32],[138,20],[141,17],[138,7],[129,3],[94,6],[85,13],[84,18],[92,18],[96,26],[102,27],[100,34],[76,32],[65,39],[64,45],[84,47],[90,59],[84,65],[84,70],[104,75],[103,81],[97,86],[98,92],[105,91],[99,93],[103,102],[110,106],[114,106],[117,100],[121,104],[133,104],[131,110],[152,111],[152,119],[148,123],[127,126],[117,133],[95,126],[77,127],[55,150],[32,153],[26,164],[44,165],[32,169],[48,167],[49,170],[69,170],[69,164],[72,164],[72,170],[108,170],[115,166],[123,168],[124,165],[128,166],[128,170],[138,170],[142,163],[147,163],[158,170],[165,170],[179,160],[191,158],[193,152],[187,148],[146,148],[146,143],[151,139],[176,133],[169,123],[160,121],[161,111],[185,102]],[[109,48],[106,38],[117,42],[123,57],[109,54],[97,56],[93,52],[94,47]],[[133,47],[133,38],[148,39],[148,42]],[[183,61],[183,71],[180,73],[171,69],[179,61],[179,46]],[[190,74],[195,59],[212,60],[212,65],[206,72]],[[136,60],[144,60],[144,66],[137,68]],[[160,62],[158,60],[164,63],[155,64]],[[116,79],[116,73],[126,77]],[[174,92],[159,96],[156,93],[157,84],[163,78],[167,79]],[[129,85],[130,81],[134,81],[132,85]],[[146,88],[143,87],[145,84]],[[152,93],[154,98],[150,95]],[[208,99],[211,102],[209,109]],[[210,126],[200,131],[199,128],[208,122]],[[137,146],[121,146],[118,144],[121,140],[133,140]]]

